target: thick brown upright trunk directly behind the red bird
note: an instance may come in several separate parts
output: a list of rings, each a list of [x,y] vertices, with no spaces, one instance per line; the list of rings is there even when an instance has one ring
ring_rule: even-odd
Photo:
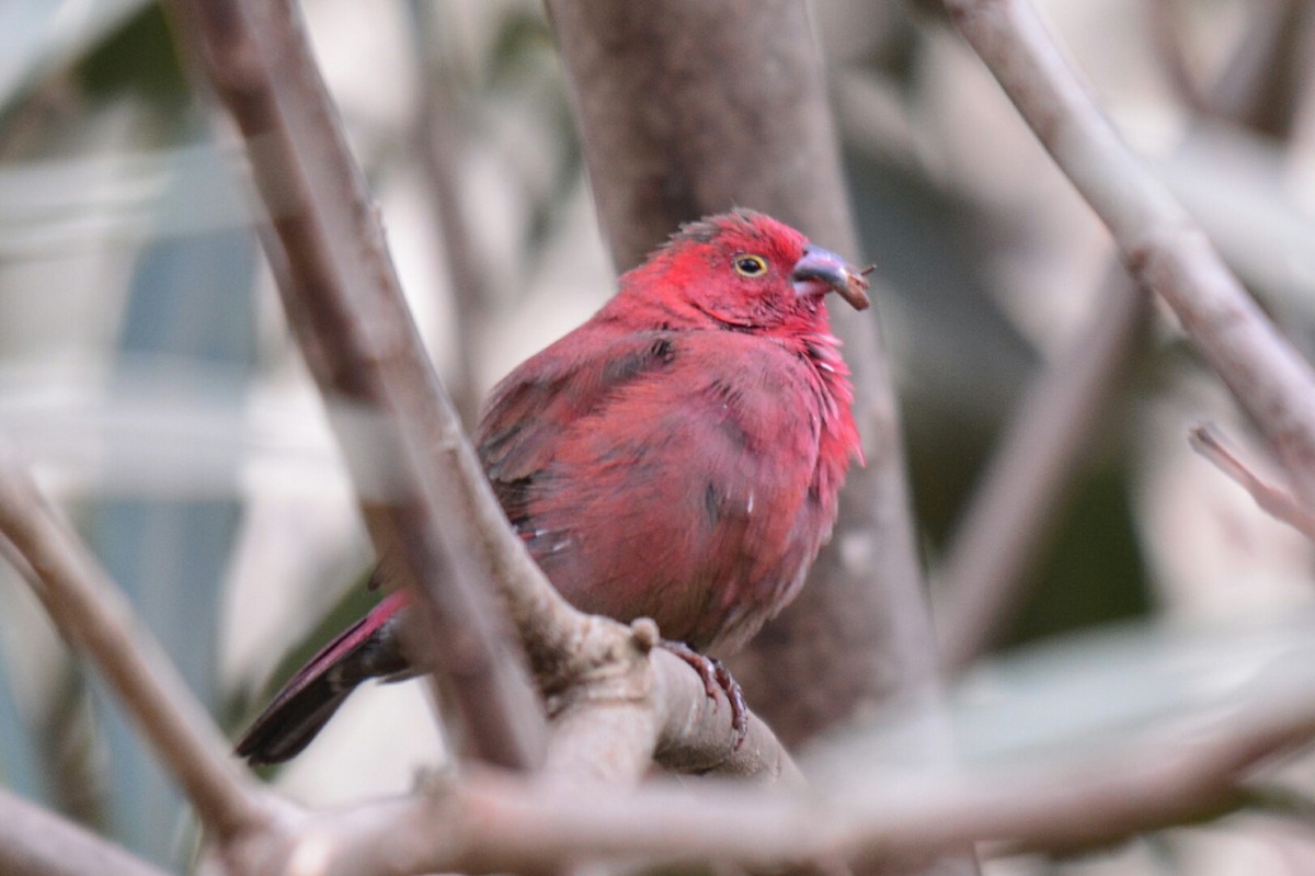
[[[856,253],[806,3],[547,0],[604,237],[636,264],[677,224],[734,205]],[[885,350],[836,308],[867,468],[793,605],[729,660],[788,744],[901,698],[936,712],[936,651]],[[928,733],[928,748],[939,734]],[[976,872],[970,856],[939,862]]]

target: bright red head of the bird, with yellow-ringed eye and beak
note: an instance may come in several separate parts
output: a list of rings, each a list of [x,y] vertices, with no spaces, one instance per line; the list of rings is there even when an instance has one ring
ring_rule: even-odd
[[[744,330],[815,324],[828,292],[861,310],[867,288],[863,274],[835,253],[743,209],[682,225],[622,278],[622,289],[656,297],[668,313]]]

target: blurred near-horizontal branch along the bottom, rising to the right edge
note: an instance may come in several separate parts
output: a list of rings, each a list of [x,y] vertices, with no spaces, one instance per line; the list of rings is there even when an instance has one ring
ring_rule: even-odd
[[[534,872],[592,858],[877,868],[984,840],[1091,847],[1219,812],[1249,769],[1315,733],[1310,697],[1245,705],[1190,744],[1159,734],[1073,760],[865,776],[830,796],[715,781],[583,793],[480,772],[429,796],[322,815],[297,844],[321,864],[308,876]]]

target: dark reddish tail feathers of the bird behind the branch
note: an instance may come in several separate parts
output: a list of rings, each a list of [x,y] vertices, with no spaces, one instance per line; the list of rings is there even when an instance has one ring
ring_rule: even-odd
[[[401,592],[384,597],[310,658],[251,723],[237,754],[252,764],[288,760],[314,739],[358,684],[409,675],[397,629],[406,601]]]

